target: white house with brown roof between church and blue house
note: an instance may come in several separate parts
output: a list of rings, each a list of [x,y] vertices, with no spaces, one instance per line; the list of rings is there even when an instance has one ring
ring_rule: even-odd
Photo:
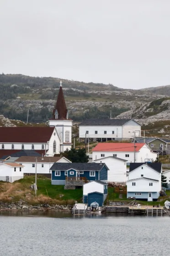
[[[24,165],[24,173],[32,174],[36,172],[36,158],[37,174],[49,174],[49,178],[51,178],[50,167],[52,167],[53,163],[71,163],[67,158],[58,156],[21,156],[15,162],[20,166]]]

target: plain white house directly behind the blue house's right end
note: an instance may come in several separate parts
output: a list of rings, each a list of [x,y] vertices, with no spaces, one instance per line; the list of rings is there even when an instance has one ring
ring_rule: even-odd
[[[107,171],[107,182],[125,183],[127,181],[127,160],[118,157],[107,156],[97,159],[95,162],[103,162],[109,168]]]

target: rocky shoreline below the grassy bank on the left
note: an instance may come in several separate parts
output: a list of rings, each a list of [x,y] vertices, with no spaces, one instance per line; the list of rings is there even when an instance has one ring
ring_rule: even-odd
[[[0,202],[0,211],[71,211],[72,205],[29,205],[24,200],[18,202]]]

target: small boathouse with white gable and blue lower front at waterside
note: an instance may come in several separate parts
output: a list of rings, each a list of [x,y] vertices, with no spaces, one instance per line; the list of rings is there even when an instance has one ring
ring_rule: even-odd
[[[103,206],[107,197],[108,184],[100,180],[91,181],[83,185],[83,203],[90,206],[93,203],[98,203]]]

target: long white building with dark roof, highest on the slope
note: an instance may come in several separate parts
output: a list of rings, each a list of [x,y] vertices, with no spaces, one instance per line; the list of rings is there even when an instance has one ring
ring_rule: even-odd
[[[133,119],[88,119],[79,125],[79,138],[94,141],[131,139],[141,136],[141,125]]]

